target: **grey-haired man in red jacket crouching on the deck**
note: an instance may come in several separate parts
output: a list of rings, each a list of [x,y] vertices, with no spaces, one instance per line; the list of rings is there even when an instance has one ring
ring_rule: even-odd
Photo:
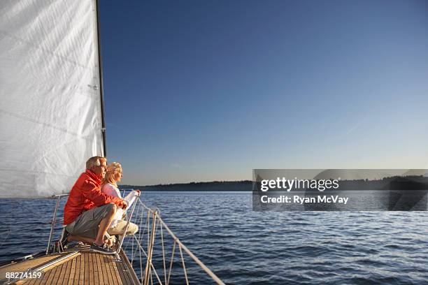
[[[92,251],[115,254],[106,246],[107,229],[117,207],[127,208],[127,203],[117,197],[101,193],[101,179],[106,175],[107,160],[94,156],[86,162],[86,171],[80,175],[70,191],[64,207],[64,226],[69,233],[67,240],[78,240],[91,245]]]

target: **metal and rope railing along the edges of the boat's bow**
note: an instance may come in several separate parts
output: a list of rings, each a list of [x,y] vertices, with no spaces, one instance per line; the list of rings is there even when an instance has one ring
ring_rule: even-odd
[[[57,196],[47,252],[50,250],[49,246],[52,242],[59,200],[64,196],[66,195]],[[131,205],[130,211],[127,212],[129,214],[126,217],[127,226],[124,233],[126,233],[131,222],[138,226],[138,232],[127,237],[122,235],[123,238],[120,238],[118,242],[116,261],[121,262],[119,254],[123,249],[134,270],[139,272],[141,284],[169,285],[176,275],[180,275],[179,283],[189,284],[190,268],[192,272],[198,274],[198,278],[201,278],[201,275],[196,272],[197,268],[205,272],[204,278],[211,279],[215,284],[224,284],[171,231],[162,219],[158,208],[148,207],[138,196],[136,202]],[[173,283],[177,283],[177,281]]]

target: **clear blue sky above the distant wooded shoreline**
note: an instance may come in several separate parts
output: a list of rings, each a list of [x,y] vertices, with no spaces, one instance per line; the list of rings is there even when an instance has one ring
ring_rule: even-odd
[[[123,183],[427,168],[427,1],[100,1]]]

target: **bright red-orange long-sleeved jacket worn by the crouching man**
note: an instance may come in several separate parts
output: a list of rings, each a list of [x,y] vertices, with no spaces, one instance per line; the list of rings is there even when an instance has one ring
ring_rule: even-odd
[[[101,192],[101,180],[91,170],[87,169],[80,175],[70,191],[69,198],[64,207],[64,225],[70,224],[83,211],[99,207],[108,203],[115,203],[122,207],[123,199],[108,196]]]

